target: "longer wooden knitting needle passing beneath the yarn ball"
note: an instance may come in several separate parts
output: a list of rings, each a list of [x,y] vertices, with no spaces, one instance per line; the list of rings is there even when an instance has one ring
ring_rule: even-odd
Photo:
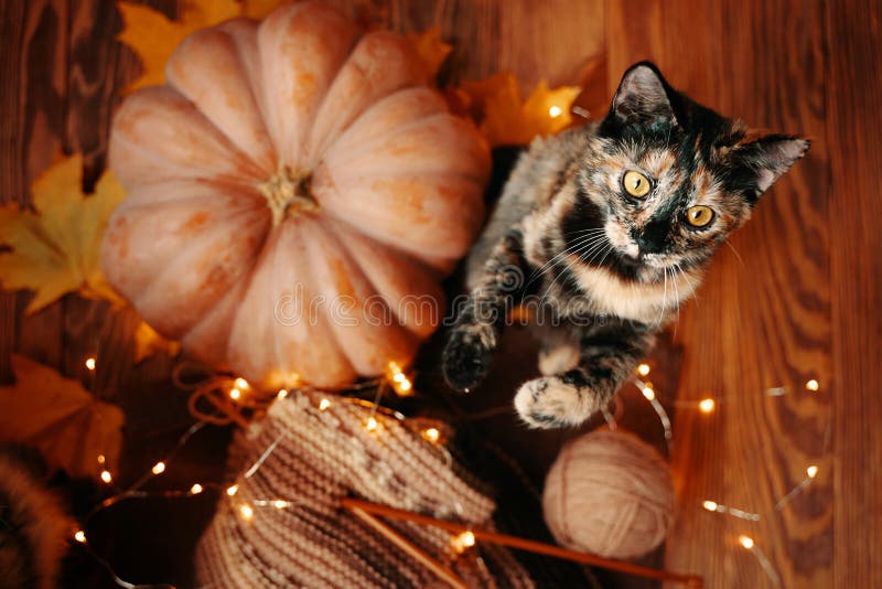
[[[415,524],[440,527],[441,529],[447,529],[449,532],[454,532],[459,534],[462,534],[463,532],[471,532],[472,534],[474,534],[476,539],[483,539],[492,544],[508,546],[510,548],[528,550],[531,553],[544,554],[557,558],[564,558],[567,560],[572,560],[574,563],[582,563],[585,565],[592,565],[595,567],[606,568],[610,570],[619,570],[621,572],[627,572],[630,575],[636,575],[638,577],[645,577],[647,579],[658,579],[664,581],[680,582],[689,587],[690,589],[701,589],[704,586],[703,577],[698,575],[669,572],[667,570],[659,570],[655,568],[632,565],[631,563],[623,563],[621,560],[611,560],[609,558],[602,558],[600,556],[594,556],[585,553],[578,553],[576,550],[569,550],[567,548],[561,548],[559,546],[552,546],[550,544],[528,540],[524,538],[518,538],[516,536],[508,536],[506,534],[488,532],[485,529],[475,529],[471,526],[466,526],[463,524],[456,524],[454,522],[448,522],[445,520],[437,520],[434,517],[429,517],[427,515],[419,515],[404,510],[396,510],[395,507],[388,507],[386,505],[372,503],[369,501],[344,497],[342,500],[342,503],[345,508],[351,510],[356,515],[358,515],[356,513],[357,510],[364,513],[368,517],[370,517],[368,514],[375,514],[384,517],[391,517],[394,520],[404,520],[406,522],[412,522]]]

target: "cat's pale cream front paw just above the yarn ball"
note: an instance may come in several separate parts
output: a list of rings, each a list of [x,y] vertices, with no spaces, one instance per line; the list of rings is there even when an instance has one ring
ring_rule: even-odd
[[[600,410],[603,398],[591,388],[560,376],[527,381],[515,395],[515,409],[534,428],[578,426]]]

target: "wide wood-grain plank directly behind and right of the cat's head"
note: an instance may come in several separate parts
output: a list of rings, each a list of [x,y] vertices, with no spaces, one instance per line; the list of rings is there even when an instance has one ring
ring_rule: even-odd
[[[789,23],[786,29],[782,23]],[[755,218],[723,249],[699,298],[684,310],[680,400],[722,397],[710,417],[677,413],[674,468],[681,506],[668,546],[674,568],[700,570],[710,587],[765,586],[738,547],[753,536],[784,586],[831,580],[832,497],[825,432],[830,293],[824,29],[814,2],[623,2],[607,4],[611,83],[630,63],[652,58],[697,100],[759,127],[799,131],[813,153],[771,191]],[[613,82],[614,79],[614,82]],[[785,397],[762,390],[786,385]],[[817,462],[821,475],[782,513],[778,497]],[[755,525],[700,510],[704,499],[761,512]]]

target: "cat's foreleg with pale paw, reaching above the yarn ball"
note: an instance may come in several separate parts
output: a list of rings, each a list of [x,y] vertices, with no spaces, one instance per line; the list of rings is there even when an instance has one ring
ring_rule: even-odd
[[[524,383],[515,408],[530,427],[578,426],[610,403],[649,349],[654,333],[622,325],[581,343],[577,367]]]

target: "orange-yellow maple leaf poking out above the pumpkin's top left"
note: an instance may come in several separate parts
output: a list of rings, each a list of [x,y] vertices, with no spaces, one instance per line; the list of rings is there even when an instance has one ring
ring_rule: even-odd
[[[249,2],[254,10],[270,2]],[[190,33],[241,15],[246,11],[236,0],[185,0],[181,2],[179,18],[170,20],[163,13],[141,4],[119,1],[122,31],[117,40],[131,47],[141,60],[141,76],[129,84],[126,93],[143,86],[165,83],[165,63],[174,49]]]

